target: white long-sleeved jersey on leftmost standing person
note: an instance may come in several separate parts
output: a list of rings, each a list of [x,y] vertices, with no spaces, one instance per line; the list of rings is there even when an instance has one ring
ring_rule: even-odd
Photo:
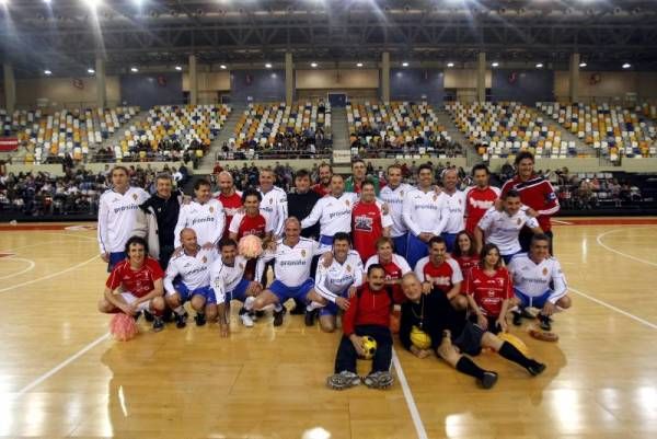
[[[135,229],[137,209],[149,197],[140,187],[129,187],[123,195],[113,189],[101,195],[97,231],[101,253],[118,253],[126,250],[126,242]]]

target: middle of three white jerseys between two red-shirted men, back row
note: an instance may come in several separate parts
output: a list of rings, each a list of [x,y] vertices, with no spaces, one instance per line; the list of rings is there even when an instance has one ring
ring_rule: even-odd
[[[449,218],[447,196],[436,194],[434,189],[427,193],[412,190],[404,197],[403,218],[408,230],[416,236],[423,232],[439,235]]]

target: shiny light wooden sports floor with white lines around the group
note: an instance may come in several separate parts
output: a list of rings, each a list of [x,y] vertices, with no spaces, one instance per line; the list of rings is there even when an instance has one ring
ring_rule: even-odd
[[[561,340],[512,327],[548,370],[530,378],[485,353],[476,361],[500,376],[491,391],[399,345],[391,390],[331,391],[339,334],[289,314],[277,330],[233,316],[229,339],[142,324],[114,342],[96,312],[95,231],[2,226],[0,437],[656,438],[657,220],[560,221],[574,299],[555,319]]]

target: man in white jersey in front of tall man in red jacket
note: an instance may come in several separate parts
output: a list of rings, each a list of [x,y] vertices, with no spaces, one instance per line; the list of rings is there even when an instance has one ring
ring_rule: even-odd
[[[486,210],[484,217],[474,229],[476,252],[480,253],[484,243],[495,244],[505,264],[511,261],[516,253],[521,252],[518,236],[522,227],[527,226],[534,233],[543,233],[535,218],[521,209],[520,195],[509,190],[502,196],[502,211],[494,207]]]

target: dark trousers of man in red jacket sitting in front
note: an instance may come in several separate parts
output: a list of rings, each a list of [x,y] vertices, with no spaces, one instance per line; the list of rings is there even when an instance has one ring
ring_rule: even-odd
[[[390,362],[392,361],[392,334],[390,333],[390,328],[379,325],[356,326],[356,335],[369,335],[377,340],[377,351],[372,359],[371,372],[388,372],[390,370]],[[339,373],[343,370],[356,373],[357,359],[358,354],[354,344],[349,337],[343,335],[337,348],[337,355],[335,356],[335,373]]]

